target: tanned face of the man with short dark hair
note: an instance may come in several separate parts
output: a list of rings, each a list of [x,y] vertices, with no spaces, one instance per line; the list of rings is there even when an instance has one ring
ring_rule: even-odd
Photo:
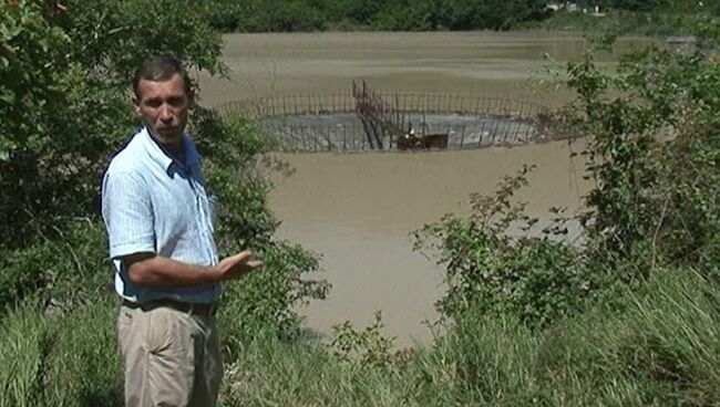
[[[192,104],[192,95],[186,94],[183,77],[175,74],[162,82],[141,80],[137,91],[140,96],[133,97],[135,112],[143,116],[158,142],[178,145]]]

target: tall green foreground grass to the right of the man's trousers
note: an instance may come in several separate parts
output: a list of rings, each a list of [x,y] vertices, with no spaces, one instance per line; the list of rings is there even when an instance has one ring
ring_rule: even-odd
[[[720,404],[718,284],[658,273],[623,311],[598,306],[544,331],[469,314],[390,367],[313,343],[249,343],[225,406],[712,406]]]

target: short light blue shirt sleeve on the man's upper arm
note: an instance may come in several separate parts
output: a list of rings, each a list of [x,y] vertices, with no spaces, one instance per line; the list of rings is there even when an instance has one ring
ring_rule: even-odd
[[[102,213],[107,228],[112,259],[156,251],[153,206],[147,187],[140,175],[105,175]]]

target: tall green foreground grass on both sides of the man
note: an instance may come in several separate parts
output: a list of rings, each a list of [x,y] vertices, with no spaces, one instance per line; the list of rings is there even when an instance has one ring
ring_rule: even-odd
[[[389,365],[260,335],[227,365],[225,406],[648,406],[720,404],[720,294],[691,270],[657,273],[623,310],[544,332],[461,321]],[[112,298],[72,314],[3,317],[0,406],[122,405]]]

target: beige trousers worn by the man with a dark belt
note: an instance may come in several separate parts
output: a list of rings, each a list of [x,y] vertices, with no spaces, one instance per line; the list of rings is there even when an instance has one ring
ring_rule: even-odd
[[[212,407],[223,379],[213,316],[121,306],[126,407]]]

